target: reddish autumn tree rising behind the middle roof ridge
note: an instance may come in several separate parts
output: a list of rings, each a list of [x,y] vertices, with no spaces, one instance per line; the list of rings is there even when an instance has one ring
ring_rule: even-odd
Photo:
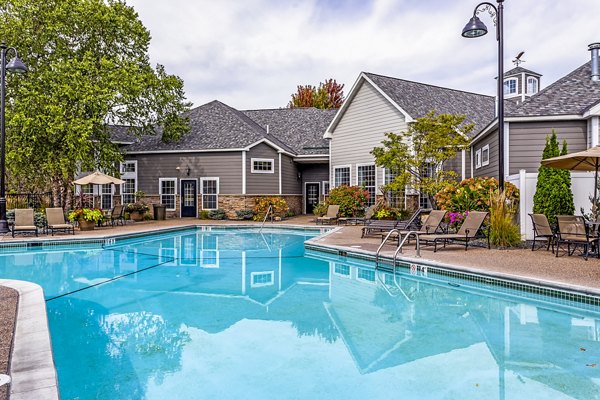
[[[344,102],[344,85],[335,79],[321,82],[319,87],[312,85],[298,86],[296,93],[292,94],[289,108],[316,107],[320,109],[340,108]]]

